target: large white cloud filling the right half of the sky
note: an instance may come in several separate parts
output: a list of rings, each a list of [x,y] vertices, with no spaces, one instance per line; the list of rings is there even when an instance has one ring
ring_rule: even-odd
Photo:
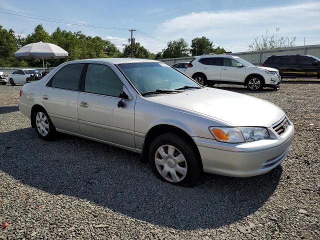
[[[266,29],[269,35],[279,27],[280,36],[314,36],[320,31],[320,2],[295,5],[248,8],[245,10],[222,10],[191,12],[164,21],[159,35],[164,39],[206,36],[227,50],[246,51],[247,45]],[[313,40],[312,42],[315,42]],[[320,41],[317,41],[320,43]]]

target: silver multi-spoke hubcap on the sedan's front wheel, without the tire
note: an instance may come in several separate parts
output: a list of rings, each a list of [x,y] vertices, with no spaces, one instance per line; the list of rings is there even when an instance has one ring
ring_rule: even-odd
[[[167,181],[179,182],[186,176],[186,159],[173,145],[160,146],[155,152],[154,162],[160,175]]]

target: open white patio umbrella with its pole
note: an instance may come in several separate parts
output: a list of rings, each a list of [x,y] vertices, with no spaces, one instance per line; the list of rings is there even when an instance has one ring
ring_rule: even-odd
[[[14,56],[19,59],[42,59],[44,71],[44,59],[64,58],[68,52],[55,44],[40,41],[22,46],[14,52]]]

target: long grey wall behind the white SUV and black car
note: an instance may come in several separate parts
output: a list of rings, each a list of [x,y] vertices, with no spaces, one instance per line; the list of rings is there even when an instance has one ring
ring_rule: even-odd
[[[283,47],[264,51],[245,51],[245,52],[234,52],[232,55],[239,56],[244,60],[251,62],[254,65],[261,65],[262,62],[271,55],[285,55],[285,54],[305,54],[320,57],[320,45],[307,45],[307,46],[294,46],[294,47]],[[172,65],[176,62],[190,61],[193,57],[177,57],[177,58],[165,58],[159,59],[166,64]]]

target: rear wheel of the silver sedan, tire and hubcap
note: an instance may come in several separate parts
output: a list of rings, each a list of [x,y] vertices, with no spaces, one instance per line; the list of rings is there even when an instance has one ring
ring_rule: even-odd
[[[32,117],[38,136],[45,141],[53,140],[56,131],[48,113],[44,109],[39,108],[33,112]]]

